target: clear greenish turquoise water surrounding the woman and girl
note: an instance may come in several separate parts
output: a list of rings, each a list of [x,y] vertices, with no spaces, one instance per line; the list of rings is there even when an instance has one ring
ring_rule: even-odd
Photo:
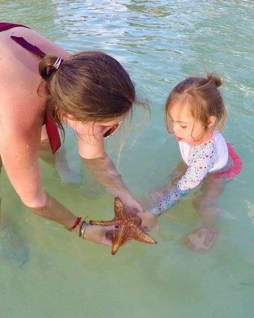
[[[69,51],[103,50],[128,69],[151,120],[138,125],[136,112],[118,169],[144,205],[179,161],[163,123],[167,94],[185,76],[204,74],[204,65],[224,78],[224,135],[244,162],[219,198],[220,234],[203,255],[183,244],[200,226],[191,196],[160,218],[161,234],[151,232],[157,245],[132,241],[111,256],[26,209],[3,171],[2,219],[24,238],[29,257],[17,268],[0,262],[1,317],[253,317],[253,2],[0,0],[0,7],[2,20],[26,24]],[[81,181],[63,183],[42,163],[45,188],[77,215],[109,219],[113,199],[81,167],[73,144],[70,132],[68,160]]]

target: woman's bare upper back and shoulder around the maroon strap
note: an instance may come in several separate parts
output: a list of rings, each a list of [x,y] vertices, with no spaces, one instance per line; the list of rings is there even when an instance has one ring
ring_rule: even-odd
[[[26,27],[0,32],[0,120],[2,129],[17,129],[21,133],[23,128],[33,130],[42,126],[46,96],[37,93],[41,56],[19,45],[12,36],[23,38],[45,53],[63,57],[69,53]]]

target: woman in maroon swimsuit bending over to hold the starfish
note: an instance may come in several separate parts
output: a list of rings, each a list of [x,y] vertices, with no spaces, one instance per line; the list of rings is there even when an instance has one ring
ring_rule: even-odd
[[[102,52],[70,55],[23,25],[0,23],[0,154],[22,202],[41,217],[75,230],[83,238],[111,245],[113,227],[82,223],[41,185],[39,154],[60,147],[57,127],[76,132],[79,155],[114,196],[142,211],[104,149],[132,112],[135,89],[129,75]],[[39,71],[38,71],[39,69]]]

